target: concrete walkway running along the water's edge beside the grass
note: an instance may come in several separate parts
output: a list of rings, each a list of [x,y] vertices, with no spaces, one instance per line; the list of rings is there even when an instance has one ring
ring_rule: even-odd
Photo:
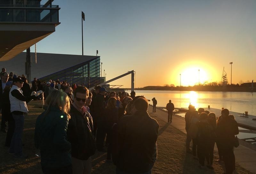
[[[156,108],[156,112],[152,112],[153,107],[151,105],[148,106],[148,112],[152,116],[156,116],[164,121],[168,121],[167,119],[167,112]],[[173,114],[172,116],[172,123],[170,123],[173,127],[176,127],[180,131],[187,134],[185,130],[185,119],[181,116]],[[217,146],[215,145],[214,150],[218,150]],[[249,149],[243,145],[239,145],[238,148],[235,148],[234,154],[236,157],[236,163],[238,163],[241,167],[246,170],[251,171],[252,173],[256,173],[256,151]]]

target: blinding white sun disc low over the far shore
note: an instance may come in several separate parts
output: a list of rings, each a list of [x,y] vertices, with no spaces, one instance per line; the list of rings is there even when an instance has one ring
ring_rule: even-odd
[[[184,71],[181,72],[182,86],[194,86],[194,85],[198,85],[199,83],[202,84],[208,80],[209,80],[208,74],[202,68],[191,67],[191,68],[184,69]]]

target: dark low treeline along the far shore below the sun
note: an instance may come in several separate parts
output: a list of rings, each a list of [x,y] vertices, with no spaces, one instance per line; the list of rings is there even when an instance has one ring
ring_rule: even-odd
[[[228,84],[228,85],[195,85],[195,86],[145,86],[135,90],[161,90],[161,91],[234,91],[234,92],[256,92],[250,85]]]

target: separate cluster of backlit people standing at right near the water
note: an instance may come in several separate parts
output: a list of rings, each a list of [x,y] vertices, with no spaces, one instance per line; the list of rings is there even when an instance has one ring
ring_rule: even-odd
[[[193,105],[189,105],[188,112],[185,114],[186,121],[186,150],[198,159],[200,167],[213,169],[213,151],[215,142],[218,147],[218,162],[224,161],[226,173],[231,174],[235,170],[234,147],[236,137],[239,133],[237,122],[233,115],[229,115],[228,109],[221,110],[221,115],[216,119],[213,112],[204,111],[204,108],[195,110]],[[192,151],[189,148],[193,142]],[[197,157],[196,157],[197,156]]]

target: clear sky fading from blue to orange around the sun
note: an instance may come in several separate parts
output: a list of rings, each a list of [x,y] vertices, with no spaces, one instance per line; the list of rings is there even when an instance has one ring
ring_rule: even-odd
[[[135,87],[188,86],[220,82],[225,67],[230,83],[229,62],[233,62],[232,83],[255,78],[256,1],[54,0],[52,4],[61,8],[61,24],[36,44],[36,51],[81,55],[84,11],[84,55],[99,50],[107,80],[134,70]],[[110,84],[130,88],[131,75]]]

